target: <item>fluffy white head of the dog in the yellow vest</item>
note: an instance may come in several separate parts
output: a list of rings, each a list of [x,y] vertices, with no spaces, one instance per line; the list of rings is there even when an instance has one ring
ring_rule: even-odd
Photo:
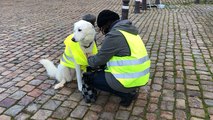
[[[74,36],[72,41],[83,44],[89,44],[94,41],[96,35],[94,26],[85,20],[76,22],[74,24],[73,32]]]

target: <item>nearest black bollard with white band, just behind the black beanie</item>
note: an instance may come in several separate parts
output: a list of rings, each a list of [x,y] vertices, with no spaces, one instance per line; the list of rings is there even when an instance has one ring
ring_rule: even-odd
[[[121,19],[122,20],[128,19],[128,13],[129,13],[129,0],[123,0]]]

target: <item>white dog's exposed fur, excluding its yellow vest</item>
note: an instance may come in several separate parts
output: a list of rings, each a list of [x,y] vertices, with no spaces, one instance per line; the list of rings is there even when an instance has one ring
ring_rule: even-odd
[[[74,24],[73,32],[74,36],[72,41],[80,43],[81,49],[84,51],[85,55],[92,54],[96,35],[94,26],[87,21],[80,20]],[[78,89],[81,91],[82,72],[80,70],[80,65],[78,65],[76,62],[74,62],[75,69],[68,68],[62,64],[59,64],[58,67],[56,67],[53,62],[48,59],[42,59],[39,62],[45,67],[47,74],[59,82],[54,86],[55,89],[61,88],[66,82],[77,78]]]

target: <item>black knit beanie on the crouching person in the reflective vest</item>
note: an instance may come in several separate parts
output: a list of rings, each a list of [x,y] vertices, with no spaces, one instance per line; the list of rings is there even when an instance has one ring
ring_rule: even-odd
[[[103,10],[99,13],[97,18],[97,25],[99,28],[103,27],[109,21],[114,22],[119,20],[120,17],[117,13],[110,11],[110,10]]]

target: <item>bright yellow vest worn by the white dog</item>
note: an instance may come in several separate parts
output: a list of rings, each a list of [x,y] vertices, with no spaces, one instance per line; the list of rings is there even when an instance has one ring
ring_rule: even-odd
[[[81,66],[81,70],[86,71],[86,67],[88,66],[87,57],[81,49],[80,43],[72,41],[73,36],[74,34],[71,34],[64,40],[65,50],[60,64],[69,68],[75,68],[73,62],[75,60],[75,62]],[[96,54],[97,52],[97,46],[94,44],[92,54]]]

